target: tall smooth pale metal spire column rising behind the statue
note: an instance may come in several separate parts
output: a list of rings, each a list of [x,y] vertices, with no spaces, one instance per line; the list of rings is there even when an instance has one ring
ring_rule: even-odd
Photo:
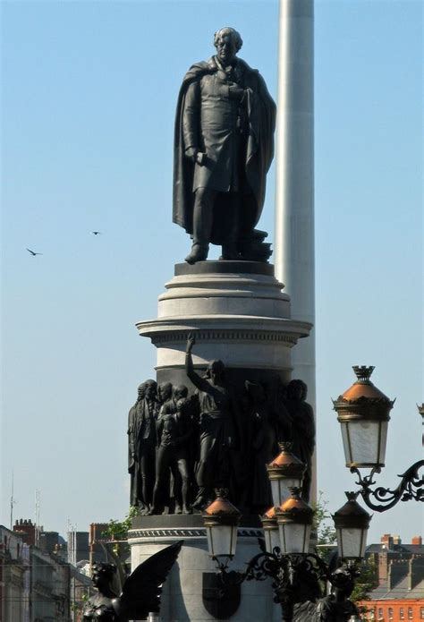
[[[276,135],[276,277],[292,317],[315,324],[314,5],[280,0]],[[315,407],[315,335],[293,348],[293,378]]]

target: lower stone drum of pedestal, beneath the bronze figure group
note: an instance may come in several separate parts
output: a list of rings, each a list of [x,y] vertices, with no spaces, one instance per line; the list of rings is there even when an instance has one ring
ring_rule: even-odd
[[[249,524],[256,526],[247,526]],[[245,517],[239,528],[231,570],[245,570],[246,562],[259,553],[258,538],[261,535],[258,517]],[[184,541],[182,551],[163,587],[160,622],[210,622],[216,618],[208,613],[203,600],[204,596],[210,598],[210,592],[203,590],[204,575],[215,574],[216,567],[208,555],[206,529],[200,515],[135,519],[129,533],[131,567],[137,567],[150,555],[180,540]],[[232,622],[273,622],[280,619],[281,609],[273,602],[269,580],[242,584],[240,605],[231,616]]]

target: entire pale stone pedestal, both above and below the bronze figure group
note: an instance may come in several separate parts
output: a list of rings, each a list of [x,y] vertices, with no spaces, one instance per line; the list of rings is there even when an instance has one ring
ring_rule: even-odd
[[[245,380],[267,388],[291,379],[291,352],[310,324],[293,320],[290,298],[274,276],[274,267],[254,261],[200,261],[175,266],[174,277],[158,300],[156,320],[137,324],[140,336],[157,347],[157,381],[185,384],[187,337],[195,334],[194,367],[206,369],[214,359],[225,363],[225,375],[242,398]],[[243,416],[244,413],[242,413]],[[245,459],[249,461],[249,448]],[[259,553],[258,516],[244,517],[237,554],[230,569],[242,570]],[[159,515],[136,519],[129,533],[131,565],[174,541],[184,545],[164,585],[162,622],[204,622],[215,619],[202,601],[205,573],[214,573],[206,530],[200,515]],[[281,619],[269,581],[242,584],[241,603],[233,622]],[[223,618],[221,618],[223,619]]]

